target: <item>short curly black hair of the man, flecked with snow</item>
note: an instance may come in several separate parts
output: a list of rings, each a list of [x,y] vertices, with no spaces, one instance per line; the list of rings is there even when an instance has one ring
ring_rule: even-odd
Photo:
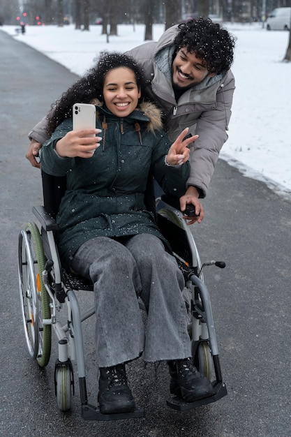
[[[237,38],[227,30],[204,17],[181,23],[178,28],[179,33],[174,39],[177,51],[186,47],[188,52],[195,52],[197,57],[206,61],[211,73],[219,74],[230,69]]]

